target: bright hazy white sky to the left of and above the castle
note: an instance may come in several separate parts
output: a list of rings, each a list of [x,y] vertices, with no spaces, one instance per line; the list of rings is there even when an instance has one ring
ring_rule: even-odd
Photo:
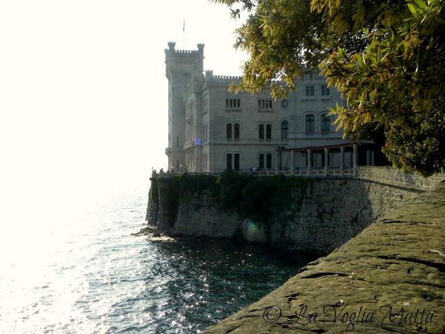
[[[239,24],[207,0],[1,1],[3,204],[37,216],[147,184],[166,164],[167,42],[237,75]]]

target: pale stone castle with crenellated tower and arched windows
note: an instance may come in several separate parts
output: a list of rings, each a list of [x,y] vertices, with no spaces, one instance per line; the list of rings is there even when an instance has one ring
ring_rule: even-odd
[[[203,69],[204,45],[197,50],[165,49],[168,78],[168,169],[189,172],[353,168],[357,145],[332,125],[328,107],[340,93],[318,74],[304,77],[289,97],[231,93],[241,77]],[[310,157],[310,159],[309,159]],[[366,151],[366,165],[373,152]]]

